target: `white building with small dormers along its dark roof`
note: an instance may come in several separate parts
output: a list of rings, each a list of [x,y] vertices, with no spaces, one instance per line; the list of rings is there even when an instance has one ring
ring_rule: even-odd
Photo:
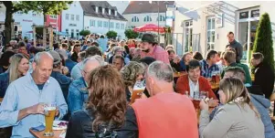
[[[107,1],[80,1],[84,11],[84,29],[91,33],[106,34],[113,30],[118,38],[125,38],[124,31],[127,20]]]

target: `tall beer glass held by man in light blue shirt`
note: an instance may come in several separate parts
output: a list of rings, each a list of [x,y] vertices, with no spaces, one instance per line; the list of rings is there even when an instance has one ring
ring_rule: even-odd
[[[56,116],[56,104],[45,104],[44,107],[44,115],[45,115],[45,133],[44,136],[53,136],[54,133],[52,131],[53,122]]]

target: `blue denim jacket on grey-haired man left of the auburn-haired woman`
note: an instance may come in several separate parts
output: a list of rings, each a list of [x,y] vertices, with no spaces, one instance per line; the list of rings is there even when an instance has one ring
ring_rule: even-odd
[[[88,101],[89,93],[83,77],[73,80],[69,85],[68,104],[71,114],[84,109],[84,103]]]

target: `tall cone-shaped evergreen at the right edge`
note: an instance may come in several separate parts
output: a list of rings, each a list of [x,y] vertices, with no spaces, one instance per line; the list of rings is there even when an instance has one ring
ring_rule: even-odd
[[[260,16],[253,52],[262,53],[264,56],[263,61],[268,63],[272,69],[274,69],[272,29],[270,24],[270,16],[268,13],[264,13]]]

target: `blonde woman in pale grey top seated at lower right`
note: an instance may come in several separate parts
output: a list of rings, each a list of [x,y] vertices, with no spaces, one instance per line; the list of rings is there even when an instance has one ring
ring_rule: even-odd
[[[201,138],[264,138],[264,125],[241,80],[221,80],[218,94],[224,104],[209,122],[207,101],[200,102]]]

